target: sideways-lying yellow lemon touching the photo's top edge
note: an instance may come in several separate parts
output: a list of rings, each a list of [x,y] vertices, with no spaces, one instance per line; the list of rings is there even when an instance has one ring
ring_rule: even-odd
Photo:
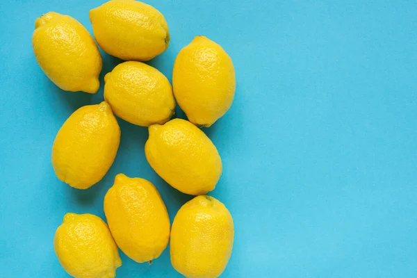
[[[101,49],[123,60],[151,60],[170,43],[163,15],[140,1],[108,1],[90,10],[90,22]]]

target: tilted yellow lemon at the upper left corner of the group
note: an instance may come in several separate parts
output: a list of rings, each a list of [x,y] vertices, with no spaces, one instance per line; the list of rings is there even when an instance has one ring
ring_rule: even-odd
[[[59,88],[91,94],[99,90],[100,52],[76,19],[54,12],[38,17],[32,45],[40,67]]]

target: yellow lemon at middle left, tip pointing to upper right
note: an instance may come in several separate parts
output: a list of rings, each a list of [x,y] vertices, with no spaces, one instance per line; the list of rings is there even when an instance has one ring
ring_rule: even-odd
[[[120,127],[106,102],[83,106],[65,121],[52,147],[58,179],[79,189],[100,181],[113,164]]]

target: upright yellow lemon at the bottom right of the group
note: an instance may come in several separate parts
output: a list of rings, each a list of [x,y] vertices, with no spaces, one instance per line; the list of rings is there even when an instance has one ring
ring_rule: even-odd
[[[172,223],[172,266],[187,278],[219,277],[229,262],[233,219],[226,206],[209,196],[184,204]]]

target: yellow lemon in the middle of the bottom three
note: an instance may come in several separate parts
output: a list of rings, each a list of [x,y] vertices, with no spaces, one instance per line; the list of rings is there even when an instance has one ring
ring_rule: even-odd
[[[104,197],[104,213],[117,245],[134,261],[156,259],[167,247],[167,208],[158,190],[146,179],[117,174]]]

